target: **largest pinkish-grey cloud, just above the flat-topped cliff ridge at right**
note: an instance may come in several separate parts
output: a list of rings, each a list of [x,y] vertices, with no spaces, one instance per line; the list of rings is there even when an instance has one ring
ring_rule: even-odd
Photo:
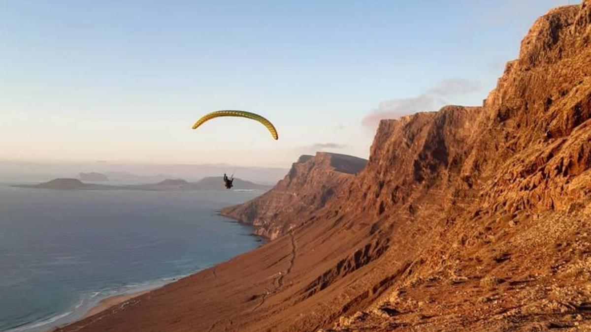
[[[425,110],[437,110],[447,98],[467,95],[480,90],[479,82],[466,79],[442,80],[436,86],[416,97],[384,100],[362,120],[363,126],[375,128],[381,119],[397,119],[401,116]]]

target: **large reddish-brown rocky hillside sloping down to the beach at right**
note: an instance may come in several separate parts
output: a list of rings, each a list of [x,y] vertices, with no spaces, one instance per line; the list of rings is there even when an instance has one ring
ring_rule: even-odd
[[[584,0],[534,23],[482,106],[383,120],[322,204],[254,210],[295,223],[275,240],[63,331],[591,330],[590,117]]]

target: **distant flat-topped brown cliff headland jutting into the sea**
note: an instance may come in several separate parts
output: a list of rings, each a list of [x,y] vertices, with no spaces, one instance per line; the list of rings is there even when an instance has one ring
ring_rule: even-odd
[[[257,235],[275,239],[322,208],[335,194],[335,188],[352,180],[366,162],[328,152],[303,155],[272,190],[244,204],[226,207],[222,214],[252,224]]]

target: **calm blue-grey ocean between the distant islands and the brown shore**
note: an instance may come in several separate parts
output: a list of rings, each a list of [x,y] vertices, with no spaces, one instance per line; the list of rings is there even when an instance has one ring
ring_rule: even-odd
[[[261,245],[219,216],[257,191],[42,190],[0,184],[0,331],[47,331],[106,297]]]

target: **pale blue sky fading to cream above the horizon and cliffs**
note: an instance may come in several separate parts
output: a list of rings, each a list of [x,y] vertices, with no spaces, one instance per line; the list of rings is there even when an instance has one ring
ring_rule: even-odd
[[[481,105],[567,0],[0,0],[0,161],[289,167],[380,118]],[[278,129],[223,118],[264,115]]]

